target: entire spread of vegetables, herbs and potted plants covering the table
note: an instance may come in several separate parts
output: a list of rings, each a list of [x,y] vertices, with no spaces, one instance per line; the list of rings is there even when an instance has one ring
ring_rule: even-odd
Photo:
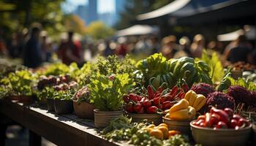
[[[187,139],[190,128],[250,130],[256,109],[253,77],[246,73],[235,80],[231,68],[222,68],[217,53],[208,55],[206,51],[202,58],[195,59],[167,60],[156,53],[136,64],[129,56],[111,55],[98,56],[81,68],[75,63],[57,63],[31,69],[33,72],[10,66],[3,70],[1,100],[37,96],[35,106],[45,102],[55,109],[54,106],[67,103],[69,107],[86,107],[81,112],[88,112],[83,109],[91,106],[99,134],[124,145],[194,145],[198,142],[195,135],[194,139]]]

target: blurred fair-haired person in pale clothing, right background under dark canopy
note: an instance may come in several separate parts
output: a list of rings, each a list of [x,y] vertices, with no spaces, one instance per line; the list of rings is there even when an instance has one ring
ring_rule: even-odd
[[[203,49],[205,49],[205,38],[202,34],[195,35],[193,39],[193,43],[190,47],[190,52],[192,54],[192,57],[194,58],[200,58],[203,53]]]

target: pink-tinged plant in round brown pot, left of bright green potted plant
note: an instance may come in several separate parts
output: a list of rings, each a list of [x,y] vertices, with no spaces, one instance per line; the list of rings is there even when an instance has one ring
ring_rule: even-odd
[[[94,118],[94,106],[91,103],[89,89],[86,86],[80,88],[73,97],[75,115],[79,118]]]

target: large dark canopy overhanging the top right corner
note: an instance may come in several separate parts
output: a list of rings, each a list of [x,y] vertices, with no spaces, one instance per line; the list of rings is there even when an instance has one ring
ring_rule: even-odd
[[[195,10],[182,9],[174,12],[173,16],[181,25],[218,22],[244,25],[255,23],[255,6],[255,0],[229,0]]]

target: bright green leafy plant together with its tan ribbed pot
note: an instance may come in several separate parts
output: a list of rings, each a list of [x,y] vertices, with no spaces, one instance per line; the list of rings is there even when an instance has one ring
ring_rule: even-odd
[[[122,104],[125,93],[135,85],[129,74],[95,74],[91,77],[89,90],[94,103],[94,125],[108,126],[110,120],[123,114]]]

